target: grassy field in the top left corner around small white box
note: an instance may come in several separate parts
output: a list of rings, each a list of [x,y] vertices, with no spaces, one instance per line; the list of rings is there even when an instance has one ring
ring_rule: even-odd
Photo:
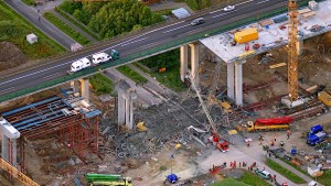
[[[63,46],[47,37],[3,1],[0,1],[0,42],[12,42],[28,58],[38,59],[65,52]],[[34,33],[39,41],[33,45],[25,39],[31,33]]]

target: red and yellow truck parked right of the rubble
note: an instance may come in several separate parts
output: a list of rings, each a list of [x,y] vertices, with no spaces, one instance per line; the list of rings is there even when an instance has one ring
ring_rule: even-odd
[[[257,119],[255,122],[247,121],[247,132],[287,130],[292,121],[291,117]]]

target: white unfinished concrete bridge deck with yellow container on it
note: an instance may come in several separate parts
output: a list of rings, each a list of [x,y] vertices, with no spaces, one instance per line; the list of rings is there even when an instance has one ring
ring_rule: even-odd
[[[307,8],[302,8],[307,9]],[[308,37],[312,37],[325,32],[331,31],[331,0],[322,1],[319,3],[318,9],[314,10],[316,15],[311,15],[309,18],[303,18],[300,15],[299,18],[299,31],[303,34],[299,37],[299,40],[306,40]],[[286,13],[277,15],[275,18],[279,18],[286,15]],[[271,18],[275,19],[275,18]],[[285,25],[286,29],[279,29],[280,25]],[[257,54],[284,46],[287,44],[288,37],[288,26],[286,22],[275,23],[269,25],[268,28],[263,28],[257,25],[257,23],[253,23],[249,25],[245,25],[238,29],[248,29],[248,28],[258,28],[259,39],[248,42],[249,50],[245,51],[245,44],[237,44],[232,46],[234,41],[234,34],[229,32],[221,33],[218,35],[214,35],[207,39],[200,40],[206,47],[209,47],[212,52],[214,52],[218,57],[221,57],[225,63],[233,63],[239,59],[246,59]],[[313,25],[323,26],[319,32],[311,32],[310,29]],[[258,50],[254,50],[254,44],[260,44]]]

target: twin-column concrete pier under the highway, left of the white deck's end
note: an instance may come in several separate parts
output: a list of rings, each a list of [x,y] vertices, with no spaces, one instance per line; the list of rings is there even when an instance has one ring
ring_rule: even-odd
[[[181,80],[184,81],[186,73],[188,73],[188,52],[189,52],[189,46],[191,48],[191,77],[193,79],[193,83],[196,88],[199,88],[199,62],[200,62],[200,56],[199,56],[199,44],[191,43],[189,45],[183,45],[180,47],[181,51],[181,67],[180,67],[180,74],[181,74]]]

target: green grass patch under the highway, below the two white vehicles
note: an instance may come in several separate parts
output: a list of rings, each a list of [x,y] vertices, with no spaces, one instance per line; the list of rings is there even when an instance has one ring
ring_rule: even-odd
[[[90,76],[88,79],[93,90],[97,95],[103,95],[103,94],[116,95],[114,90],[113,81],[105,75],[96,74],[94,76]]]

